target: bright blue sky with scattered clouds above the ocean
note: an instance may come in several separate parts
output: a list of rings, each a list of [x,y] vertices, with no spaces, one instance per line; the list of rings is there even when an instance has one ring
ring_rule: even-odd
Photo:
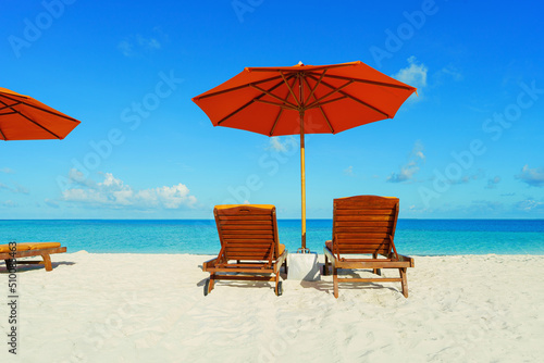
[[[82,121],[0,143],[0,218],[300,216],[297,137],[212,127],[190,101],[245,66],[360,60],[418,87],[394,120],[306,139],[308,217],[544,217],[544,5],[469,1],[2,3],[0,87]]]

